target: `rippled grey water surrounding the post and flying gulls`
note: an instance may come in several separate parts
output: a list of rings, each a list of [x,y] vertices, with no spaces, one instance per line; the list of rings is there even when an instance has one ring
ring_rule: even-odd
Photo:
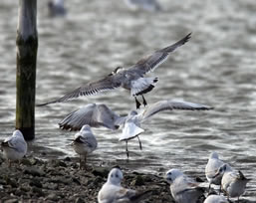
[[[121,131],[94,129],[99,148],[94,164],[126,164],[140,171],[181,168],[203,176],[207,157],[220,157],[253,180],[245,199],[256,200],[256,2],[254,0],[161,1],[164,11],[130,11],[121,0],[67,1],[67,18],[47,17],[38,1],[39,52],[37,102],[65,95],[83,83],[128,67],[142,56],[192,32],[192,39],[151,75],[159,77],[147,102],[183,99],[215,107],[211,111],[161,112],[143,124],[137,140],[128,142],[126,161]],[[0,124],[1,138],[15,123],[16,1],[0,5]],[[134,107],[125,91],[36,108],[36,139],[74,155],[67,146],[74,133],[57,123],[70,111],[90,102],[104,102],[121,114]]]

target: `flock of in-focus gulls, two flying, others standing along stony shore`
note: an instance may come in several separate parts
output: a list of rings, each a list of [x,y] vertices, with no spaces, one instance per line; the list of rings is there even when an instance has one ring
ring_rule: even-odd
[[[128,140],[136,137],[141,149],[139,135],[144,132],[141,125],[154,114],[163,110],[213,109],[213,107],[206,104],[177,100],[159,101],[147,105],[143,97],[154,88],[158,81],[157,77],[144,78],[144,75],[154,71],[167,59],[171,52],[188,42],[190,36],[191,34],[188,34],[173,45],[154,52],[128,69],[119,67],[103,79],[81,86],[60,99],[39,104],[39,106],[42,106],[50,103],[66,102],[117,88],[128,90],[131,97],[134,98],[136,110],[130,110],[125,116],[113,111],[104,103],[89,103],[69,113],[59,122],[62,129],[79,130],[75,134],[71,145],[76,153],[80,155],[80,168],[83,168],[83,166],[86,168],[87,156],[98,147],[97,137],[91,127],[103,126],[112,130],[122,129],[119,140],[127,142],[126,151],[128,156]],[[141,96],[143,109],[139,108],[138,96]],[[18,129],[15,130],[12,136],[1,143],[1,149],[8,160],[9,166],[13,161],[21,160],[27,153],[27,143],[22,132]],[[240,170],[236,170],[228,163],[220,160],[216,152],[209,155],[205,167],[205,176],[208,181],[207,186],[188,177],[176,168],[168,170],[164,178],[170,185],[170,194],[177,203],[225,203],[229,201],[229,198],[237,198],[239,201],[239,197],[245,192],[246,184],[250,181]],[[139,202],[150,195],[151,191],[149,190],[138,192],[124,188],[121,184],[123,179],[124,175],[121,168],[113,168],[109,173],[107,182],[98,194],[99,203]],[[218,193],[211,187],[212,184],[219,185]]]

